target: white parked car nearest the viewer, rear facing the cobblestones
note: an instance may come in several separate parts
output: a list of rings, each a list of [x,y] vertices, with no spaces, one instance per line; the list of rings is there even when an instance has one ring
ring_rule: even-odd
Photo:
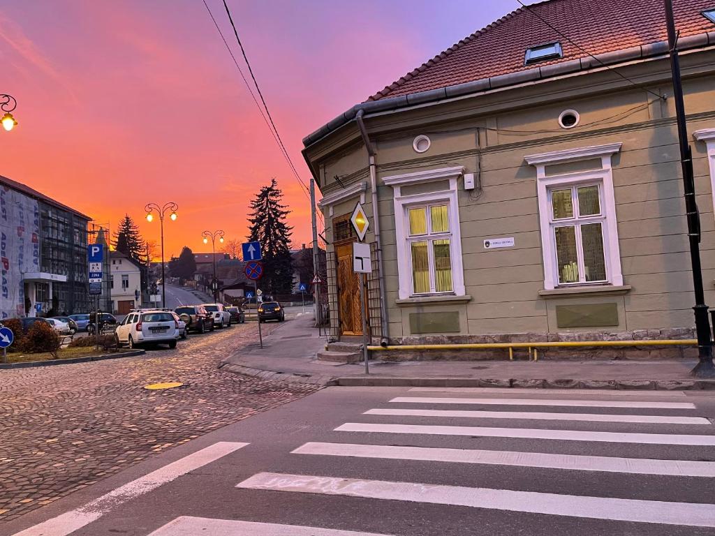
[[[114,331],[117,347],[129,348],[143,344],[169,344],[176,348],[179,340],[179,322],[174,315],[160,309],[142,309],[129,312]]]

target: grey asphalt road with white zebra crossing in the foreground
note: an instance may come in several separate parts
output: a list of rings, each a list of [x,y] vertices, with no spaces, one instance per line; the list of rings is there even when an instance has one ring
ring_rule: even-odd
[[[331,387],[9,534],[715,535],[714,419],[708,392]]]

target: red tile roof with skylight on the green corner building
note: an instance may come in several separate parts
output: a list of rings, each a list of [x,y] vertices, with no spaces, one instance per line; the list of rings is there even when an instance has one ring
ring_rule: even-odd
[[[681,37],[715,31],[715,24],[701,14],[704,9],[714,8],[715,0],[674,0],[673,4]],[[438,89],[666,40],[661,0],[548,0],[528,9],[521,7],[465,37],[368,100]],[[526,49],[553,41],[561,43],[563,58],[524,65]]]

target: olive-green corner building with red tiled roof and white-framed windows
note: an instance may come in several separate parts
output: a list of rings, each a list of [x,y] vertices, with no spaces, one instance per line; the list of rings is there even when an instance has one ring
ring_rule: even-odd
[[[676,3],[715,305],[712,7]],[[303,140],[323,194],[333,339],[362,333],[347,221],[358,202],[381,250],[375,342],[694,337],[665,19],[647,8],[518,9]]]

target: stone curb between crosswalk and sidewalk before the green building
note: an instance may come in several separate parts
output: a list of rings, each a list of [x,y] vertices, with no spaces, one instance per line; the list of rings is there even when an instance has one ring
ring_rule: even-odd
[[[338,377],[340,387],[512,387],[514,389],[715,390],[713,379],[488,379]]]

